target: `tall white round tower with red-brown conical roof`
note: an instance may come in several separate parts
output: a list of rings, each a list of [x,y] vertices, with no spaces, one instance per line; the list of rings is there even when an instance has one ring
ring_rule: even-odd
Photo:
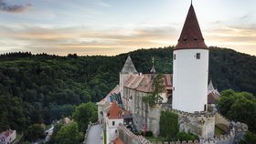
[[[208,103],[208,46],[192,4],[173,57],[173,108],[187,112],[205,111]]]

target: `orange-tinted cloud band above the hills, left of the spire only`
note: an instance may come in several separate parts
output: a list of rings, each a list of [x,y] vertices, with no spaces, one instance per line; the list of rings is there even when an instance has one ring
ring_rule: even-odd
[[[137,48],[173,45],[171,40],[176,39],[174,28],[168,25],[126,28],[0,26],[0,37],[11,40],[10,44],[22,43],[27,51],[58,55],[117,55]]]

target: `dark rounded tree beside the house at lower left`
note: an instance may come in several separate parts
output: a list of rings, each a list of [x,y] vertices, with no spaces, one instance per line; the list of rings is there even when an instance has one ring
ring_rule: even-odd
[[[35,141],[36,139],[41,139],[44,137],[44,129],[39,124],[33,124],[28,127],[25,133],[25,139],[28,141]]]

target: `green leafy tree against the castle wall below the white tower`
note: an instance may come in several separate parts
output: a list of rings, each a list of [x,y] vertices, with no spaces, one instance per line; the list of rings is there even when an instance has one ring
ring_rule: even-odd
[[[160,116],[160,134],[167,139],[176,138],[178,132],[178,116],[177,114],[169,111],[161,111]]]

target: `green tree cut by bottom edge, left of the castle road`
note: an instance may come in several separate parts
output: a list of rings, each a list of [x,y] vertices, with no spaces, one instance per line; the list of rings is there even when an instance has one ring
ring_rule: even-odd
[[[60,128],[55,137],[56,144],[80,144],[83,139],[83,135],[79,132],[78,124],[71,122],[68,125],[64,125]]]

